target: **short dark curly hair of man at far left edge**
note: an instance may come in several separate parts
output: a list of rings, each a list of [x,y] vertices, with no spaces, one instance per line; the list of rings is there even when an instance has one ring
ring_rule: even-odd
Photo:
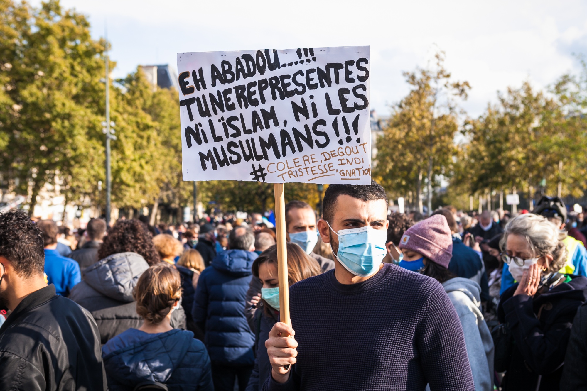
[[[11,262],[16,274],[31,277],[45,268],[43,232],[19,209],[0,213],[0,257]]]

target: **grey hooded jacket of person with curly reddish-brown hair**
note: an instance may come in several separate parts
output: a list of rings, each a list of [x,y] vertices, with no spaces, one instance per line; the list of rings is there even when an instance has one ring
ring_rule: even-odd
[[[100,331],[102,344],[129,328],[139,328],[133,289],[149,264],[136,252],[120,252],[100,259],[84,270],[83,281],[73,287],[70,299],[90,311]],[[171,315],[171,327],[185,328],[185,313]]]

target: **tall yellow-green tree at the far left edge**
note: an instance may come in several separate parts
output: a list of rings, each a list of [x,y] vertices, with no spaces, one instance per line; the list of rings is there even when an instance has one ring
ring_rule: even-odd
[[[56,177],[69,199],[97,196],[103,51],[85,16],[57,1],[0,0],[0,172],[8,191],[29,194],[30,213]]]

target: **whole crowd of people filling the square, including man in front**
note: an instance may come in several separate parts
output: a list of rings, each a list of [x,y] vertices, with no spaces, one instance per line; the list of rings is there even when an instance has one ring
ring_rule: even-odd
[[[582,213],[388,205],[375,181],[286,204],[290,323],[269,215],[1,213],[0,389],[587,389]]]

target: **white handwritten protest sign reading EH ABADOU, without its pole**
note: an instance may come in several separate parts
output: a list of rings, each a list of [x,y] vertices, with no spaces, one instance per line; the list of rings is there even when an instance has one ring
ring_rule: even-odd
[[[178,53],[184,180],[371,182],[369,46]]]

